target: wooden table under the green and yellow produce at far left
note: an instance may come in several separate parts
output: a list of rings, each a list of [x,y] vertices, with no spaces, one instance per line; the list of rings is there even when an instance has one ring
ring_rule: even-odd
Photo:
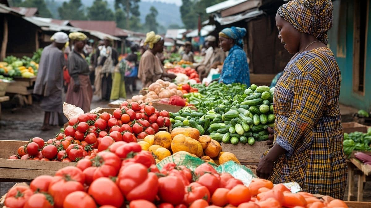
[[[14,82],[6,88],[6,93],[20,94],[24,97],[26,104],[32,105],[32,87],[35,81],[36,77],[14,78]]]

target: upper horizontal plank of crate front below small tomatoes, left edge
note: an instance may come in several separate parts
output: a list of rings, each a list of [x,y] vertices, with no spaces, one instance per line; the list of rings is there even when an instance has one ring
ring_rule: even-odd
[[[31,170],[57,171],[67,166],[75,166],[76,162],[39,161],[39,160],[9,160],[0,158],[0,168],[18,168]]]

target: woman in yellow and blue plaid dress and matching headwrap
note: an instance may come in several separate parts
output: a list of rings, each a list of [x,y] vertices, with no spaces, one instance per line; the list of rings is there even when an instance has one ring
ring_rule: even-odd
[[[341,74],[326,47],[331,0],[289,1],[278,9],[276,25],[281,43],[295,55],[275,88],[274,145],[257,175],[342,199],[348,168],[338,104]]]

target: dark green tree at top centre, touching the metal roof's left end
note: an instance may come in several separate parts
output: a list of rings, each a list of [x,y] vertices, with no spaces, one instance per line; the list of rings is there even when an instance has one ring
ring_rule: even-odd
[[[195,29],[198,26],[198,15],[201,15],[201,20],[207,20],[206,8],[220,3],[224,0],[182,0],[183,4],[180,7],[181,19],[185,28]]]

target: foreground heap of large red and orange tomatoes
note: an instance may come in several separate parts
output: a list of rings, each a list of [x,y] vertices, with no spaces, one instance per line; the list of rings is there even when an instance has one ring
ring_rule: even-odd
[[[30,187],[7,193],[9,208],[280,208],[347,207],[345,202],[306,192],[291,193],[283,184],[254,178],[248,186],[231,174],[204,163],[191,171],[174,163],[161,170],[148,151],[116,142],[108,151],[86,156],[76,167],[55,176],[36,177]],[[324,200],[325,199],[325,200]],[[211,205],[211,206],[210,206]]]

